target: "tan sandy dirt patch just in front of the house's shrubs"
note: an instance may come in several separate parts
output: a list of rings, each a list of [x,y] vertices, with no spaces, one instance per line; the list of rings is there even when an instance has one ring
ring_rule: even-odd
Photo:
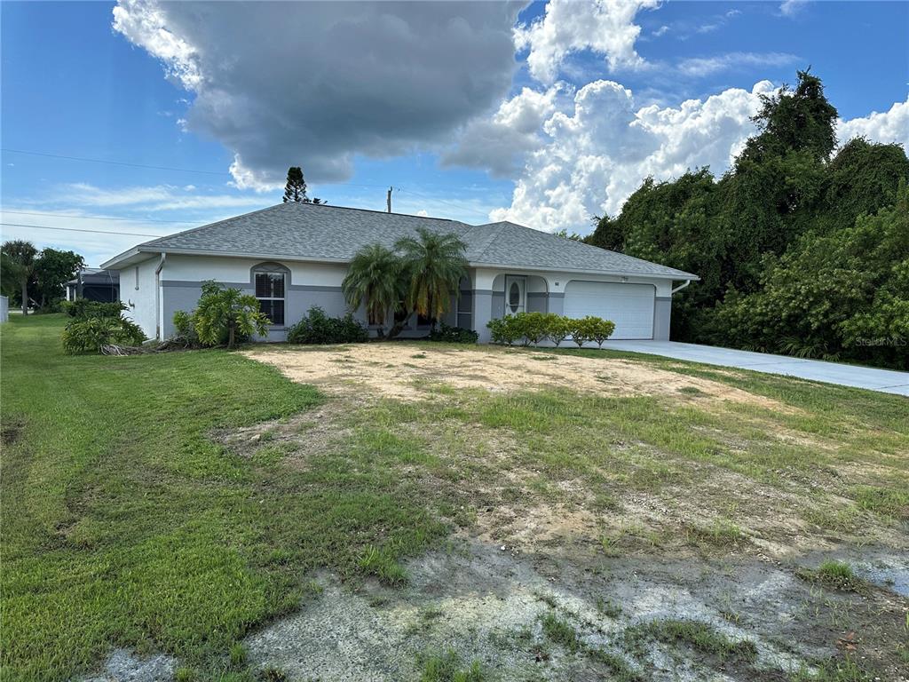
[[[634,360],[543,354],[517,348],[427,349],[403,344],[317,348],[254,348],[245,354],[276,366],[285,376],[330,393],[363,391],[399,400],[425,398],[422,386],[514,391],[564,386],[622,396],[675,395],[699,401],[731,401],[781,412],[793,408],[772,398]],[[544,359],[545,362],[534,362]]]

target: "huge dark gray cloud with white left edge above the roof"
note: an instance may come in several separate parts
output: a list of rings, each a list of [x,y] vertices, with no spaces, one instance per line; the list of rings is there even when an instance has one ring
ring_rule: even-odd
[[[343,180],[356,155],[440,145],[506,95],[514,3],[120,0],[114,28],[195,94],[185,129],[235,153],[240,188],[289,165]]]

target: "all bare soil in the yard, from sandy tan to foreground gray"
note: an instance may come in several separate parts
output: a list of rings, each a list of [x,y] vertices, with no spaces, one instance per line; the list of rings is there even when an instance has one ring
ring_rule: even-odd
[[[269,446],[285,446],[289,466],[305,466],[308,453],[344,443],[358,410],[387,399],[415,403],[438,386],[454,388],[453,403],[457,389],[568,386],[580,393],[674,396],[708,409],[798,412],[718,381],[630,360],[597,359],[594,366],[589,358],[520,349],[406,344],[255,348],[247,355],[334,397],[289,422],[218,435],[249,456],[265,436]],[[446,395],[435,392],[433,399]],[[822,436],[767,427],[767,437],[806,451],[830,454],[839,447]],[[524,444],[504,430],[470,423],[433,428],[456,429],[462,441],[482,444],[488,469],[437,478],[409,466],[402,475],[422,477],[427,490],[456,487],[472,522],[457,527],[448,550],[409,562],[405,587],[318,577],[321,594],[247,639],[256,665],[279,667],[294,680],[418,679],[421,656],[454,649],[465,662],[479,661],[490,680],[629,678],[604,665],[600,652],[640,679],[769,681],[849,657],[879,679],[909,680],[905,524],[854,510],[842,530],[818,527],[812,513],[828,514],[847,501],[840,505],[831,491],[822,504],[804,493],[832,486],[840,476],[862,480],[872,469],[844,462],[839,472],[819,467],[806,481],[787,472],[789,478],[773,484],[709,462],[686,462],[676,485],[614,486],[613,504],[603,506],[596,493],[604,491],[592,489],[589,478],[567,476],[546,494],[534,490],[530,481],[540,472]],[[432,437],[426,443],[443,459],[451,457]],[[732,452],[753,446],[726,445]],[[664,457],[639,443],[615,446],[656,462]],[[618,474],[594,476],[606,482]],[[727,517],[734,518],[733,530],[718,523]],[[865,588],[842,592],[798,577],[800,568],[829,559],[848,562]],[[547,636],[547,614],[574,629],[580,648]],[[678,619],[752,642],[757,656],[729,660],[690,643],[641,635],[648,623]]]

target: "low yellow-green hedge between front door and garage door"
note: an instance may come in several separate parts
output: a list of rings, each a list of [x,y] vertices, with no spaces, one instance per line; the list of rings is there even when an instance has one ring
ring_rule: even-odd
[[[595,341],[598,346],[612,336],[615,325],[601,317],[586,316],[580,319],[555,315],[555,313],[518,313],[506,315],[486,323],[494,344],[538,346],[552,341],[559,346],[569,336],[575,344]]]

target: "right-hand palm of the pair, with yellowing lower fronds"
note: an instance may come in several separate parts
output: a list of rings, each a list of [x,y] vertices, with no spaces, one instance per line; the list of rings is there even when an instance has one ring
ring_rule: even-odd
[[[406,236],[395,243],[409,267],[407,308],[436,320],[445,314],[458,283],[467,274],[467,245],[454,233],[439,234],[417,227],[417,236]]]

